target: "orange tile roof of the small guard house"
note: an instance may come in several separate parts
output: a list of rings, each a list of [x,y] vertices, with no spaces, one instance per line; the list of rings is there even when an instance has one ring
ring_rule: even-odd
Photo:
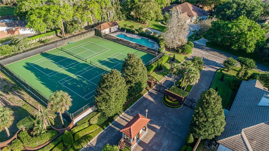
[[[132,120],[130,120],[121,130],[123,134],[129,136],[131,139],[150,121],[150,119],[136,114]]]

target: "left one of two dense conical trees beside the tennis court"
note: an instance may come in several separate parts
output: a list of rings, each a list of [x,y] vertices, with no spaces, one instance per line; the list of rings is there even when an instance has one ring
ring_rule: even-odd
[[[122,109],[126,96],[125,79],[118,70],[112,69],[110,73],[102,75],[94,99],[97,109],[109,117]]]

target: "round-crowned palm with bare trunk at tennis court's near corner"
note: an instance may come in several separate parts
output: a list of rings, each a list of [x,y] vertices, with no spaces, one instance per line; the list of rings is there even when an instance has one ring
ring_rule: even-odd
[[[60,114],[60,118],[63,124],[62,113],[65,110],[69,110],[69,107],[72,106],[71,96],[62,90],[54,92],[49,96],[48,109],[51,109],[53,112]]]

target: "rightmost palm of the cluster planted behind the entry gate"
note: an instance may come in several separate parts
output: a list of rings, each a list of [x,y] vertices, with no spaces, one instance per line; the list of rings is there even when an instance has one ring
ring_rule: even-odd
[[[200,72],[198,69],[194,68],[194,67],[190,67],[186,70],[186,80],[187,80],[187,84],[183,90],[182,95],[184,94],[187,86],[189,84],[196,84],[198,83],[198,80],[200,78]]]

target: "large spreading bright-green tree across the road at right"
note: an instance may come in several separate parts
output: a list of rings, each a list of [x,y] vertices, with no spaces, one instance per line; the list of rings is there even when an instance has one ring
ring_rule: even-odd
[[[243,49],[254,52],[257,46],[265,43],[265,30],[256,22],[240,16],[234,21],[213,21],[204,37],[217,44],[228,46],[232,49]]]

